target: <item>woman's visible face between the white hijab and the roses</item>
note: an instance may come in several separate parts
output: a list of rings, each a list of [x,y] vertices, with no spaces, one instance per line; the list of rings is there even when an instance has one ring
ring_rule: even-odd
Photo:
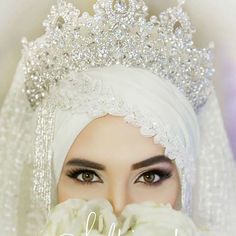
[[[90,122],[72,144],[57,186],[58,201],[106,198],[120,214],[125,205],[156,201],[177,208],[180,181],[164,148],[123,117]]]

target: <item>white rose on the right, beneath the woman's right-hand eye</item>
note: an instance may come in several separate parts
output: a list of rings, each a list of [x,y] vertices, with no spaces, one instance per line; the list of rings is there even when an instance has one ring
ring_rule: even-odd
[[[151,201],[133,203],[122,211],[121,233],[129,236],[195,236],[198,229],[190,217],[170,204]]]

